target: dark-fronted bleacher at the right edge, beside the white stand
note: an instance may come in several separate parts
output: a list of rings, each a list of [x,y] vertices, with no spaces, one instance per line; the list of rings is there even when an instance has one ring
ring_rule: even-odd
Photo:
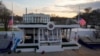
[[[93,38],[81,38],[78,41],[80,44],[86,46],[90,49],[98,49],[100,48],[100,39]]]

